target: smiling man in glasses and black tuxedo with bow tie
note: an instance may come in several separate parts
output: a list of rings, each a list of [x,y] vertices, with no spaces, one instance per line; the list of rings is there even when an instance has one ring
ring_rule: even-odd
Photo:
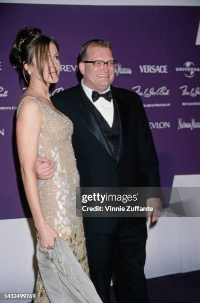
[[[80,50],[83,76],[76,87],[54,95],[55,107],[74,124],[72,143],[81,187],[160,187],[159,164],[140,97],[112,86],[117,61],[109,42],[91,40]],[[40,159],[39,159],[40,160]],[[53,164],[38,161],[40,178]],[[149,194],[149,206],[160,202]],[[152,221],[158,219],[156,209]],[[83,218],[90,277],[104,303],[110,303],[114,273],[120,303],[147,302],[144,275],[145,217]]]

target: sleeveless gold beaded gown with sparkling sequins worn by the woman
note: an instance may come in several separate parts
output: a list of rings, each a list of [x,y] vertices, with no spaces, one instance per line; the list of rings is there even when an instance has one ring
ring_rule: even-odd
[[[79,187],[79,173],[72,147],[73,123],[59,111],[55,111],[33,96],[39,103],[45,122],[38,141],[38,156],[44,156],[56,162],[54,177],[38,180],[40,203],[44,218],[59,235],[68,241],[81,267],[89,275],[82,218],[76,216],[76,187]],[[40,272],[36,282],[35,303],[49,303],[44,290]]]

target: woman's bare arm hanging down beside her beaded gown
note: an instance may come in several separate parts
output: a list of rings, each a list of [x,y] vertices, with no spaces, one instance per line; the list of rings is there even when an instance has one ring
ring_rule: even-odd
[[[53,248],[58,235],[43,217],[36,178],[38,139],[43,120],[40,105],[32,98],[25,99],[17,118],[17,148],[26,197],[39,233],[40,246],[46,251]]]

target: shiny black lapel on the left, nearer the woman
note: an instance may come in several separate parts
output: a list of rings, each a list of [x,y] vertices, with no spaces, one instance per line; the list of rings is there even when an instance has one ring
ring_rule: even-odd
[[[108,145],[106,137],[102,131],[101,126],[96,118],[94,105],[88,100],[85,95],[81,85],[77,87],[77,92],[75,96],[76,100],[76,108],[75,111],[83,120],[88,129],[92,132],[92,134],[96,137],[96,139],[104,146],[106,151],[110,154],[112,158],[114,158],[112,151]]]

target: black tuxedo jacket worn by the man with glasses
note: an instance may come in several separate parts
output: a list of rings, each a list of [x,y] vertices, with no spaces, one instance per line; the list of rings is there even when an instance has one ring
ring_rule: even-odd
[[[158,157],[140,97],[111,86],[120,114],[120,149],[116,161],[81,85],[54,95],[55,107],[74,124],[72,144],[81,187],[160,187]],[[151,194],[150,194],[151,196]],[[148,198],[151,198],[151,197]],[[125,218],[128,228],[145,218]],[[110,233],[115,217],[83,218],[85,232]]]

